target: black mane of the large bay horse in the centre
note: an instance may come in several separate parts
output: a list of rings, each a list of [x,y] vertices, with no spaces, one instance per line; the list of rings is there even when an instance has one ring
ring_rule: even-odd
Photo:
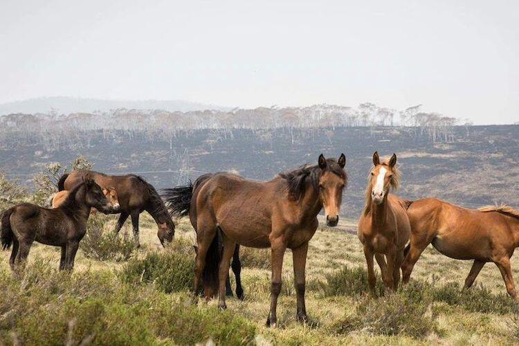
[[[347,174],[334,158],[326,159],[325,172],[332,172],[345,179],[347,184]],[[282,172],[280,177],[286,180],[286,188],[289,190],[289,196],[295,201],[300,201],[304,196],[306,182],[310,181],[313,188],[319,191],[319,178],[322,170],[318,165],[304,164],[295,170]]]

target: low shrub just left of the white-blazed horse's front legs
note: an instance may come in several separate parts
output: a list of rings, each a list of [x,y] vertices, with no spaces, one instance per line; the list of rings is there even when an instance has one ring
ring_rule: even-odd
[[[367,271],[360,266],[356,268],[344,266],[340,271],[327,274],[326,280],[327,282],[322,284],[322,289],[327,296],[358,296],[370,292],[367,284]],[[382,295],[383,291],[383,282],[381,278],[377,276],[375,292]]]

